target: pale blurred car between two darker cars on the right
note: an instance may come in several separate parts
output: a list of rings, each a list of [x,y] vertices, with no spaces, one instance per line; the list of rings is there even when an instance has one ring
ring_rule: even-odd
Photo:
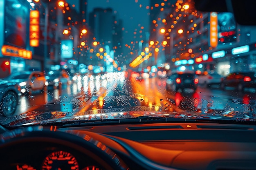
[[[197,75],[198,75],[199,85],[206,85],[206,86],[220,85],[221,81],[223,80],[223,76],[221,76],[218,73],[203,72],[202,74],[197,74]]]

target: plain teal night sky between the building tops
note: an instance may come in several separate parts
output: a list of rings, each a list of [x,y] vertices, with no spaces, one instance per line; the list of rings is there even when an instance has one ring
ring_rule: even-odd
[[[79,11],[79,0],[67,0],[67,3],[70,6],[74,4],[75,9]],[[113,11],[116,11],[117,20],[123,20],[125,43],[130,43],[130,41],[135,40],[133,39],[135,29],[139,30],[141,26],[144,26],[143,32],[149,31],[150,10],[146,9],[149,5],[150,0],[88,0],[88,13],[96,7],[112,8]],[[141,18],[144,19],[141,20]],[[136,40],[139,41],[141,39],[137,37]]]

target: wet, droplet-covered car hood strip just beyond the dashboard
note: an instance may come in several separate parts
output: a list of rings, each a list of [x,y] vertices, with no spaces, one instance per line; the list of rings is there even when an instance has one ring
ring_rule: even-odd
[[[231,120],[239,122],[255,122],[255,116],[235,111],[214,111],[213,113],[151,111],[149,107],[97,109],[85,112],[64,111],[30,111],[18,116],[8,117],[9,122],[1,122],[5,126],[30,125],[64,125],[82,123],[134,123],[134,122],[184,122],[184,121],[219,121]]]

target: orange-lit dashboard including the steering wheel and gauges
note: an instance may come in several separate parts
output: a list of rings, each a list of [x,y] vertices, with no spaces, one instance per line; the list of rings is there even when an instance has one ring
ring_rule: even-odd
[[[29,126],[0,137],[9,170],[256,169],[253,124]]]

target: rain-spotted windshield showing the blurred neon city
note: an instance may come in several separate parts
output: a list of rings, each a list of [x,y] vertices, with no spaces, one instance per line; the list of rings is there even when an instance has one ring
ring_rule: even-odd
[[[193,0],[0,3],[0,78],[26,79],[0,84],[15,99],[2,100],[0,124],[255,121],[256,26],[233,13]]]

